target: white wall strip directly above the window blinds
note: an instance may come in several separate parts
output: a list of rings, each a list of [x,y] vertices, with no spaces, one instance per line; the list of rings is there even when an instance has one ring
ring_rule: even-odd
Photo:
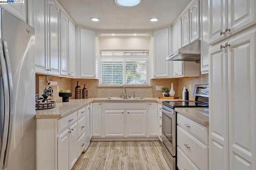
[[[100,50],[150,50],[150,36],[99,37]]]

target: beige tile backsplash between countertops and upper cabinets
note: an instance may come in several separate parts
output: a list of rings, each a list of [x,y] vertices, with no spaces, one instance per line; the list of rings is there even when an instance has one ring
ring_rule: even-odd
[[[84,84],[88,88],[89,98],[107,98],[107,97],[119,97],[123,88],[120,87],[98,87],[99,80],[97,79],[71,79],[71,78],[60,78],[60,77],[50,77],[49,80],[58,82],[59,90],[71,90],[73,92],[72,99],[75,98],[75,87],[77,81],[80,82],[80,87],[83,88]],[[39,96],[44,92],[46,86],[46,76],[36,75],[36,92],[39,92]],[[187,77],[187,78],[160,78],[151,79],[151,87],[127,87],[127,95],[133,96],[133,90],[136,97],[159,97],[162,96],[161,91],[156,91],[156,86],[167,86],[171,88],[173,83],[173,88],[175,91],[175,96],[182,98],[183,87],[188,88],[191,85],[191,91],[189,90],[189,99],[194,100],[193,90],[195,84],[208,84],[208,74],[200,74],[199,77]],[[57,86],[52,86],[53,88],[53,101],[61,101],[62,98],[58,96]]]

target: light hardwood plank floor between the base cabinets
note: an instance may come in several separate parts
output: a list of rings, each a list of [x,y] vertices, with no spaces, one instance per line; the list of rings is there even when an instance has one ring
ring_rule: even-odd
[[[72,170],[170,170],[160,141],[100,141],[78,158]]]

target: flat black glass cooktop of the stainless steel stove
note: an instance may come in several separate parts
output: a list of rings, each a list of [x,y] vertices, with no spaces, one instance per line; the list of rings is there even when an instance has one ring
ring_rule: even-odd
[[[174,109],[175,107],[209,107],[208,104],[203,104],[195,101],[191,102],[171,102],[171,101],[163,101],[162,104],[171,107]]]

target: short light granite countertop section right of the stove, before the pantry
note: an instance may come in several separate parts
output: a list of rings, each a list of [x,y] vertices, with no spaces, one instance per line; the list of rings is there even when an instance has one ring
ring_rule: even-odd
[[[209,126],[209,108],[208,107],[176,107],[175,111],[196,121],[197,123]]]

